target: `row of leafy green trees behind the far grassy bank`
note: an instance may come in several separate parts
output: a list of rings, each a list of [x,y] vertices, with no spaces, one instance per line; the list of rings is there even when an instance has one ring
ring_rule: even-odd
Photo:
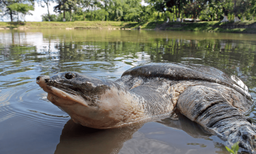
[[[33,10],[33,0],[0,0],[0,10],[9,14],[11,20],[17,12]],[[53,0],[37,0],[48,7]],[[24,3],[26,2],[26,3]],[[256,0],[55,0],[57,16],[42,15],[43,21],[111,20],[111,21],[166,21],[167,18],[199,18],[202,21],[220,21],[224,15],[229,20],[234,16],[253,20],[256,15]]]

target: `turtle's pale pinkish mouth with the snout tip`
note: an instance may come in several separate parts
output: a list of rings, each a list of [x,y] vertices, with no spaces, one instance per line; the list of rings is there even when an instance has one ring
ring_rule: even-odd
[[[73,105],[76,103],[88,106],[88,103],[79,95],[69,94],[61,89],[47,85],[49,76],[43,75],[36,78],[36,83],[48,93],[47,99],[56,105]]]

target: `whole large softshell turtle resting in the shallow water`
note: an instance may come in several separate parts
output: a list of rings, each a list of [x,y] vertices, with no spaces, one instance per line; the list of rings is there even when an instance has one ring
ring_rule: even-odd
[[[77,72],[41,75],[36,83],[48,100],[76,123],[107,129],[169,116],[175,110],[226,144],[256,149],[256,126],[244,113],[254,101],[234,75],[203,65],[150,63],[111,81]]]

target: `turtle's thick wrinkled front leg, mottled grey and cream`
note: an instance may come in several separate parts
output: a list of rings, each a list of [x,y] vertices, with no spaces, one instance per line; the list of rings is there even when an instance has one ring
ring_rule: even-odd
[[[228,103],[218,89],[192,86],[180,94],[177,109],[206,131],[215,132],[227,144],[239,141],[246,151],[256,149],[256,126],[249,117]]]

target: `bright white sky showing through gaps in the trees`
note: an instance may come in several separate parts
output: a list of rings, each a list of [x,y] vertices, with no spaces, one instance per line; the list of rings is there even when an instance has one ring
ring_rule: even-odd
[[[142,0],[141,4],[145,5],[144,0]],[[53,7],[56,6],[56,5],[57,5],[57,3],[55,3],[55,2],[54,3],[50,3],[50,6],[49,6],[50,14],[56,14],[53,11]],[[25,16],[25,21],[42,21],[41,15],[48,13],[47,12],[47,6],[41,7],[41,6],[38,5],[37,2],[35,2],[35,7],[34,8],[35,8],[34,11],[29,11],[33,15],[26,15]],[[5,21],[5,22],[11,21],[9,16],[5,16],[5,18],[3,18],[1,20]],[[22,21],[23,21],[23,19],[22,19]]]

